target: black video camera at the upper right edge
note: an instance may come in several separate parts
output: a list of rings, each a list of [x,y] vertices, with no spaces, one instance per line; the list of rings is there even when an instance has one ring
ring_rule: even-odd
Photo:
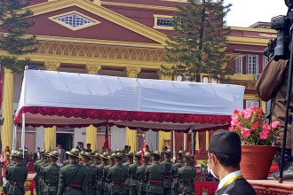
[[[293,0],[285,0],[285,4],[289,8],[293,8]],[[290,10],[290,9],[289,9]],[[270,40],[265,48],[264,54],[268,58],[273,58],[275,60],[289,59],[290,56],[290,33],[292,26],[292,14],[288,12],[287,16],[276,16],[271,20],[271,27],[277,30],[277,38]]]

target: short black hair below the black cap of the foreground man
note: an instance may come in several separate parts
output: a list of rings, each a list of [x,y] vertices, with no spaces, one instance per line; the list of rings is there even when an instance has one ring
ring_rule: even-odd
[[[213,153],[224,167],[237,168],[242,161],[242,153]]]

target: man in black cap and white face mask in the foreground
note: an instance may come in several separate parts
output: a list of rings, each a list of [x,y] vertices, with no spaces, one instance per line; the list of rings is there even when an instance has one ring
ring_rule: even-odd
[[[218,130],[210,137],[208,170],[220,180],[217,195],[256,195],[240,169],[242,142],[234,131]]]

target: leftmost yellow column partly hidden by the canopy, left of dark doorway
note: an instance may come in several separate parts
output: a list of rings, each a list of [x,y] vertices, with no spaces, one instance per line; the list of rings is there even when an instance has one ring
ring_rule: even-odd
[[[59,62],[44,62],[46,70],[57,71]],[[56,126],[44,129],[44,149],[53,151],[56,148]]]

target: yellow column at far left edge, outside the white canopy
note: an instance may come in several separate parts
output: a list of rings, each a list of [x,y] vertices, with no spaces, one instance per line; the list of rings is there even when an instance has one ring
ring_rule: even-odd
[[[4,67],[4,91],[2,115],[4,124],[1,130],[2,149],[9,146],[12,149],[12,128],[13,128],[13,72]]]

